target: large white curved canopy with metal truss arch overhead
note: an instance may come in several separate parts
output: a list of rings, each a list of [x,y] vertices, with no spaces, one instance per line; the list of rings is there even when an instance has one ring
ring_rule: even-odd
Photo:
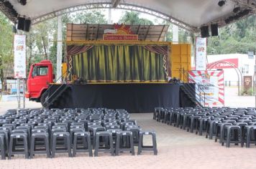
[[[14,16],[6,10],[1,1],[4,0],[0,0],[0,10],[9,19],[15,21]],[[32,19],[32,24],[73,11],[114,8],[151,14],[188,31],[198,32],[202,25],[218,23],[219,26],[224,26],[255,14],[256,0],[225,1],[224,6],[219,6],[219,0],[27,0],[27,4],[22,6],[17,0],[9,0],[19,15]],[[225,22],[229,16],[235,15],[233,12],[235,5],[240,6],[242,10],[250,9],[251,11],[243,17]]]

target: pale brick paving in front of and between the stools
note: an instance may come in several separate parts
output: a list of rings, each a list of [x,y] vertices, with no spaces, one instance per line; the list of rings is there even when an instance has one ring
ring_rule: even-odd
[[[109,153],[101,153],[97,158],[89,158],[86,154],[76,158],[56,155],[52,159],[37,155],[31,160],[16,156],[12,160],[1,160],[0,168],[256,168],[256,148],[253,146],[226,148],[205,136],[156,122],[152,120],[152,113],[132,114],[132,119],[136,119],[142,129],[156,131],[158,155],[111,157]]]

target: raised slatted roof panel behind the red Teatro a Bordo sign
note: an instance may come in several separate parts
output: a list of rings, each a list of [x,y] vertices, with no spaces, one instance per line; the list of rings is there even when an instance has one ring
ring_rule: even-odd
[[[139,40],[163,42],[168,25],[127,25]],[[67,40],[102,40],[105,29],[114,29],[113,24],[68,24]],[[85,34],[86,32],[86,34]]]

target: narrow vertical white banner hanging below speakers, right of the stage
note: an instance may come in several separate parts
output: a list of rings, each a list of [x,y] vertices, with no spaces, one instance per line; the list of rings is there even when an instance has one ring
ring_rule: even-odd
[[[206,40],[196,37],[196,70],[206,70]]]

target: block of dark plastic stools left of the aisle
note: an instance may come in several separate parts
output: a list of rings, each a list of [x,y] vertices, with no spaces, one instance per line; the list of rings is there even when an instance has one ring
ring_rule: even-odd
[[[155,146],[142,144],[143,135],[152,135]],[[45,154],[54,158],[56,153],[77,153],[98,156],[99,152],[119,155],[129,151],[134,155],[142,150],[156,151],[155,132],[142,131],[126,110],[106,108],[64,110],[8,110],[0,116],[1,158],[23,154],[33,158]],[[154,147],[154,148],[153,148]]]

